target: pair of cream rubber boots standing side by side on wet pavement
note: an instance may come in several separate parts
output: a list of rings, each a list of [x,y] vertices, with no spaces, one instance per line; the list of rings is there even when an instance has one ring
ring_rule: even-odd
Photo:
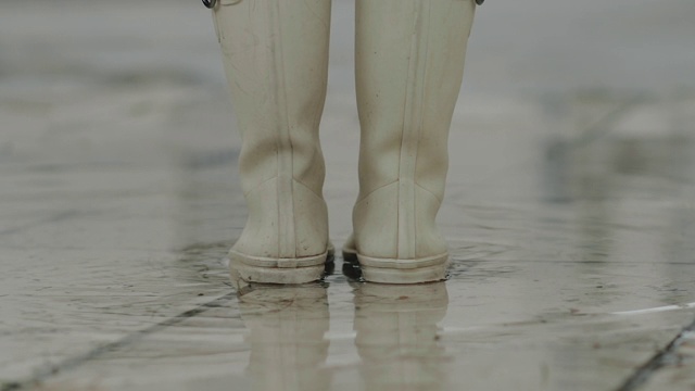
[[[367,281],[442,280],[434,218],[475,0],[356,0],[359,197],[344,258]],[[217,36],[242,138],[249,206],[230,250],[249,282],[303,283],[332,262],[318,128],[330,0],[218,0]]]

